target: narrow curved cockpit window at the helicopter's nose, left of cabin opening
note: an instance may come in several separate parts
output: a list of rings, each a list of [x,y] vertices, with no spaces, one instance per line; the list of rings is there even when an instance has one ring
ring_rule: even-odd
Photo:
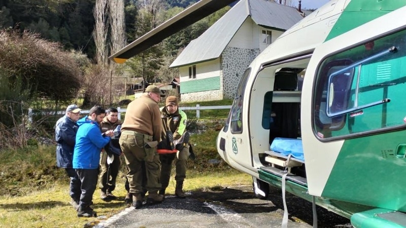
[[[229,118],[231,119],[231,133],[241,133],[243,132],[243,101],[244,101],[244,91],[247,85],[248,77],[250,75],[251,68],[245,70],[243,77],[241,78],[240,85],[237,89],[236,97],[232,102],[232,107],[229,113]]]

